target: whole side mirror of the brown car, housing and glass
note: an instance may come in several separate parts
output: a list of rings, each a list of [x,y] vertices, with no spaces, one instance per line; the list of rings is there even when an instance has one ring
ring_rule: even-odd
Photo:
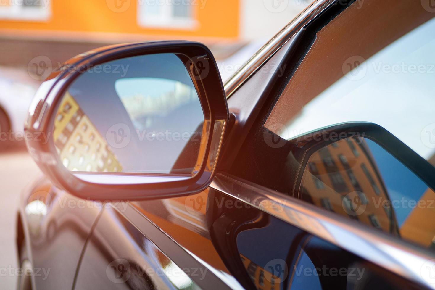
[[[229,113],[210,50],[187,41],[102,47],[41,85],[25,124],[33,159],[80,198],[144,200],[206,188]]]

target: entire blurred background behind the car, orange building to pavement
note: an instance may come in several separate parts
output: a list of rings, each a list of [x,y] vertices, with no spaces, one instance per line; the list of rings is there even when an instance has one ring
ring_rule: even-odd
[[[16,267],[20,193],[40,176],[23,142],[27,108],[63,61],[97,47],[194,40],[213,52],[223,81],[312,0],[0,0],[0,267]],[[5,289],[16,277],[0,277]]]

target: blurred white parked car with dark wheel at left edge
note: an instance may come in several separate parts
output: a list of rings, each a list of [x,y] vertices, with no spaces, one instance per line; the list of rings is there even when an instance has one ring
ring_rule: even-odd
[[[0,78],[0,140],[16,140],[23,134],[24,120],[36,92],[31,84]]]

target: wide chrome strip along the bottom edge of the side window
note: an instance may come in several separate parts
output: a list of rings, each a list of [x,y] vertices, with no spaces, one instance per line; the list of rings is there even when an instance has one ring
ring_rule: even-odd
[[[218,173],[210,187],[320,237],[408,280],[435,289],[435,255],[358,221]],[[425,275],[425,271],[431,271]]]

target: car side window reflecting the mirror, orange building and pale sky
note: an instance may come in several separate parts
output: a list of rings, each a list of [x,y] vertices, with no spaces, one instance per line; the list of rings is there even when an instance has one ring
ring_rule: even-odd
[[[231,173],[431,248],[435,13],[355,3],[306,36]]]

